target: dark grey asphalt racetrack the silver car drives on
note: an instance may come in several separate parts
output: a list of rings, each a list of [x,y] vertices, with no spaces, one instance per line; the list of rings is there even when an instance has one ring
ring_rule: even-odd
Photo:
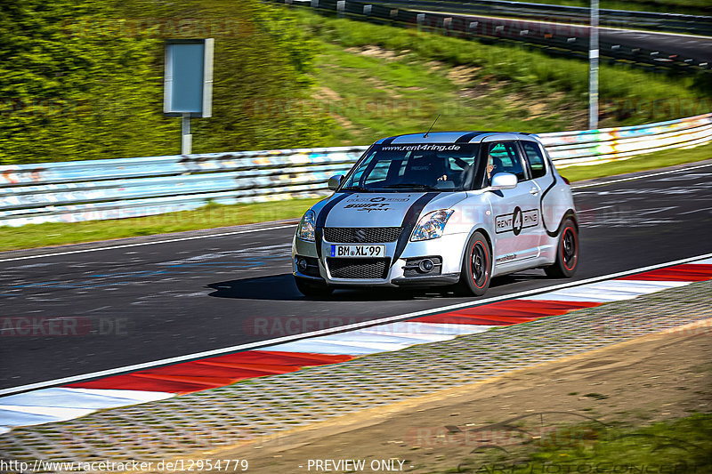
[[[575,279],[712,252],[712,161],[641,174],[575,189]],[[245,229],[255,231],[215,235]],[[373,289],[303,298],[290,273],[294,229],[266,223],[0,253],[0,389],[474,301]],[[172,241],[53,255],[157,240]],[[495,278],[486,296],[563,281],[530,270]],[[56,335],[18,334],[8,323],[18,317]]]

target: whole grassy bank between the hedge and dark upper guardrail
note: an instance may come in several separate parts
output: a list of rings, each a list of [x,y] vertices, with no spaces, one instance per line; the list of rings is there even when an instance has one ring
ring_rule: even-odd
[[[329,145],[393,133],[587,128],[587,61],[522,44],[481,44],[412,28],[294,12],[320,44],[313,99],[339,127]],[[708,76],[671,76],[622,65],[600,71],[600,126],[640,125],[707,113]]]

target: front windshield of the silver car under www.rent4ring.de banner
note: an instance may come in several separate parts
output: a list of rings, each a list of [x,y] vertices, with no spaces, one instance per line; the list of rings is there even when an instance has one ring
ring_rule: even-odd
[[[478,144],[376,145],[341,189],[358,191],[471,189]]]

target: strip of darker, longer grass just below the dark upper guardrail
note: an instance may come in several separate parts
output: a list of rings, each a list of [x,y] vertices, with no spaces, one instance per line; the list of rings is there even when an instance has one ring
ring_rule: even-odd
[[[474,84],[495,79],[514,90],[535,86],[543,92],[565,92],[570,104],[587,104],[588,65],[583,60],[554,58],[519,44],[482,44],[415,29],[325,18],[305,9],[297,14],[304,28],[329,44],[379,46],[421,62],[479,68]],[[602,111],[618,119],[605,126],[638,125],[707,113],[712,105],[712,81],[708,74],[674,76],[603,63],[599,96]]]

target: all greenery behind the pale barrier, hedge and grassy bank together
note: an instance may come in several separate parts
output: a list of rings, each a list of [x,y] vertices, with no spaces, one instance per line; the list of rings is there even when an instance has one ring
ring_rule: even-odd
[[[194,28],[182,28],[186,21]],[[537,131],[568,128],[571,112],[586,108],[584,61],[511,44],[336,20],[259,0],[4,0],[0,165],[178,153],[180,120],[162,114],[163,41],[173,37],[215,38],[214,112],[192,121],[196,153],[367,143],[429,125],[436,112],[429,103],[456,110],[441,120],[449,128],[511,129],[527,121]],[[383,67],[343,51],[369,45],[400,58]],[[433,72],[433,60],[442,68]],[[449,81],[455,66],[477,69],[472,84]],[[477,89],[485,82],[490,92]],[[340,116],[319,107],[315,86],[345,100],[400,96],[425,106],[409,116]],[[462,96],[464,88],[477,93]],[[513,92],[538,101],[549,94],[547,107],[560,110],[532,117],[522,104],[502,106]],[[602,110],[613,110],[603,126],[706,112],[710,96],[708,77],[601,71]]]

